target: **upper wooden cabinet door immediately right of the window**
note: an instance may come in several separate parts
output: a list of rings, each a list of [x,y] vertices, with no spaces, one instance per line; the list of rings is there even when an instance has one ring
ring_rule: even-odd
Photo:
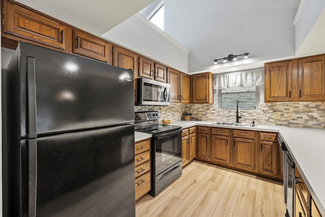
[[[280,61],[265,64],[265,102],[285,102],[293,98],[292,63]]]

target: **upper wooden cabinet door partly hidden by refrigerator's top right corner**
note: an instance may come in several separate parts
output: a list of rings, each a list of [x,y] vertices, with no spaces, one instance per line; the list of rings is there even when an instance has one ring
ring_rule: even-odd
[[[113,47],[113,66],[117,66],[123,69],[133,69],[134,78],[137,78],[137,54],[121,47]],[[134,101],[137,100],[137,81],[134,79]]]

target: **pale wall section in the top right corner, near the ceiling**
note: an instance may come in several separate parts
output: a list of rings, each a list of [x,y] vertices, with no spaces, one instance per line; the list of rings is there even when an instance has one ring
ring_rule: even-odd
[[[325,9],[325,1],[302,0],[296,15],[295,25],[295,48],[299,51],[301,45],[316,23],[319,15]]]

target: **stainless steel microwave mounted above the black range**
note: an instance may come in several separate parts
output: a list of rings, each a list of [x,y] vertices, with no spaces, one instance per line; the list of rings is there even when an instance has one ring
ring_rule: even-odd
[[[147,78],[137,78],[137,102],[135,105],[170,105],[170,91],[170,84]]]

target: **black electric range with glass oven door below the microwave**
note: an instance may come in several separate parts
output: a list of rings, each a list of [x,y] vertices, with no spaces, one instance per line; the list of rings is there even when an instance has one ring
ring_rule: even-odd
[[[182,127],[159,125],[158,119],[157,111],[135,113],[135,131],[152,134],[151,196],[182,175]]]

